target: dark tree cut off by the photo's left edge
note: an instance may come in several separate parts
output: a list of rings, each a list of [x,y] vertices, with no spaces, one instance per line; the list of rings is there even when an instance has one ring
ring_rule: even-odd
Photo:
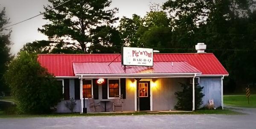
[[[4,25],[9,24],[9,18],[6,17],[5,8],[0,10],[0,91],[9,91],[9,87],[4,83],[3,73],[6,71],[6,65],[12,59],[10,54],[10,42],[9,38],[11,30],[3,28]]]

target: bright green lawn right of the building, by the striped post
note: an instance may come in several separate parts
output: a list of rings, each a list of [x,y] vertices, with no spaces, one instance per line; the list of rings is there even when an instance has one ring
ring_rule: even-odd
[[[250,95],[250,104],[245,95],[224,95],[224,104],[236,107],[256,108],[256,95]]]

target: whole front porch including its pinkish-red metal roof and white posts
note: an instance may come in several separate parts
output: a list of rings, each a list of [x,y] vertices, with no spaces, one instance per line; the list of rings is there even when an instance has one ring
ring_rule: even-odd
[[[73,62],[73,70],[80,79],[80,99],[88,94],[96,96],[96,103],[108,99],[105,109],[108,111],[113,108],[114,95],[123,95],[124,111],[173,110],[177,102],[175,92],[182,90],[179,83],[192,80],[195,87],[195,77],[201,74],[187,62],[155,62],[153,67],[121,66],[120,62]],[[96,79],[105,81],[100,84]],[[88,89],[89,85],[92,90]],[[191,92],[193,111],[194,88]],[[81,101],[81,109],[88,107],[86,104]]]

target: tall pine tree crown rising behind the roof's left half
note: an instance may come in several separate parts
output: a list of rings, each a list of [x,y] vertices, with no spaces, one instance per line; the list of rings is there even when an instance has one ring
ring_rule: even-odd
[[[52,3],[52,6],[58,6],[67,0],[48,1]],[[54,10],[49,10],[52,8],[50,5],[44,6],[44,9],[48,11],[44,14],[44,19],[50,22],[43,25],[43,28],[38,28],[38,31],[54,42],[52,46],[79,50],[82,53],[94,51],[88,50],[93,44],[93,38],[104,39],[104,37],[96,36],[96,32],[99,32],[97,30],[112,28],[110,25],[118,19],[114,17],[118,11],[117,8],[106,9],[110,5],[111,0],[72,0]],[[94,40],[97,45],[102,45],[97,39]]]

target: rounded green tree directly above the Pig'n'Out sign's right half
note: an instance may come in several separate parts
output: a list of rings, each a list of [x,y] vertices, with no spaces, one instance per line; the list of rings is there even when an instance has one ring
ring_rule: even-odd
[[[146,48],[170,48],[172,28],[164,11],[150,11],[143,18],[143,26],[139,28],[139,44]],[[161,53],[167,52],[161,49]]]

